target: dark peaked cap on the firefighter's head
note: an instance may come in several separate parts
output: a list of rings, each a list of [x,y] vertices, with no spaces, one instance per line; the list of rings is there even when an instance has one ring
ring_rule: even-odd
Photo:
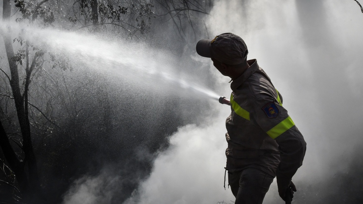
[[[233,33],[220,34],[213,40],[200,40],[196,50],[202,57],[215,58],[227,65],[241,64],[248,54],[245,41]]]

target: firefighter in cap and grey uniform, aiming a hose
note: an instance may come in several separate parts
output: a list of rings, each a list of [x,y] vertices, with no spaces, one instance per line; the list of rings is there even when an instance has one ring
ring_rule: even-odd
[[[291,178],[302,165],[306,143],[282,107],[281,93],[256,59],[247,60],[247,46],[235,34],[200,40],[196,51],[232,81],[225,154],[235,203],[261,204],[275,176],[280,197],[290,202],[296,192]]]

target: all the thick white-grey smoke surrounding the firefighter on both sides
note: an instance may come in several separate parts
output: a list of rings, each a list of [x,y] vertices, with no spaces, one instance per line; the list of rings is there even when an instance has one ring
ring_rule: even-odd
[[[305,137],[305,160],[293,178],[298,188],[295,202],[362,201],[358,184],[363,181],[359,159],[363,144],[363,15],[356,3],[220,0],[206,20],[213,37],[232,32],[245,40],[249,58],[257,58],[270,76]],[[205,63],[201,69],[212,72],[211,80],[219,93],[228,97],[228,78],[220,76],[208,60],[195,53],[192,58]],[[170,147],[159,152],[150,176],[140,182],[125,204],[234,200],[231,191],[223,189],[224,120],[230,110],[217,103],[208,105],[214,114],[198,126],[180,127],[171,135]],[[99,191],[116,176],[77,181],[66,194],[65,203],[111,203],[108,194],[99,196]],[[355,189],[349,190],[349,185]],[[335,193],[338,196],[332,196]],[[93,199],[79,200],[83,196]],[[276,183],[271,185],[265,203],[282,203]]]

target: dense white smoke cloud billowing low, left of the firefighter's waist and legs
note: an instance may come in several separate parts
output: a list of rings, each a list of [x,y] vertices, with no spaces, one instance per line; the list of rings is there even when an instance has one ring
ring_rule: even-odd
[[[179,128],[171,147],[156,158],[150,177],[125,203],[215,203],[230,197],[223,190],[223,121],[209,122]]]

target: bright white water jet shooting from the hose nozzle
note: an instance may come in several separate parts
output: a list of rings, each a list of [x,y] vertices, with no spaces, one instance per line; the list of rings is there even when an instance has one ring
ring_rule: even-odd
[[[153,82],[176,84],[180,88],[189,90],[189,93],[209,97],[219,100],[222,104],[231,105],[228,99],[219,97],[214,91],[181,78],[173,72],[168,63],[157,64],[156,61],[163,61],[163,58],[155,60],[155,56],[149,54],[152,53],[150,49],[144,45],[121,46],[98,39],[97,36],[93,35],[35,27],[22,28],[19,25],[10,24],[1,24],[0,33],[10,29],[10,26],[13,29],[21,30],[23,37],[37,46],[52,50],[55,54],[66,53],[70,58],[77,59],[77,62],[83,62],[89,68],[103,73],[119,74],[120,77],[127,81],[143,77],[141,81],[152,78],[155,79],[152,80]],[[140,49],[140,47],[143,47],[143,49]],[[143,60],[140,60],[140,58]]]

